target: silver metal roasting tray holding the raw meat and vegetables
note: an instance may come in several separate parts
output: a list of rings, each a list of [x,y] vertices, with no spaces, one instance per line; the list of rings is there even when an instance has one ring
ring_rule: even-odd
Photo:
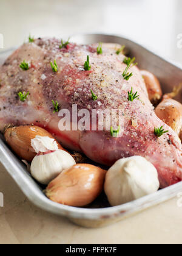
[[[139,67],[151,71],[160,79],[164,93],[172,91],[174,85],[178,85],[182,82],[182,67],[180,67],[180,65],[169,62],[126,38],[113,35],[90,34],[75,35],[72,37],[72,41],[81,44],[104,42],[126,45],[129,55],[136,57]],[[0,65],[13,50],[14,49],[4,52],[0,51]],[[182,95],[178,96],[179,101],[182,99],[181,96]],[[84,227],[101,227],[120,221],[127,216],[152,207],[152,205],[167,201],[177,196],[177,194],[182,191],[182,182],[180,182],[160,190],[157,193],[117,207],[108,207],[108,204],[105,204],[106,198],[101,196],[98,201],[88,208],[75,208],[56,204],[47,199],[42,192],[44,188],[32,179],[25,165],[21,163],[5,144],[2,135],[0,135],[0,161],[25,196],[27,196],[33,204],[50,213],[66,216],[76,224]]]

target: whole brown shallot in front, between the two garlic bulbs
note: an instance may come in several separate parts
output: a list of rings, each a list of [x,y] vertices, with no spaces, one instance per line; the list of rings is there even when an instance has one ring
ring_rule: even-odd
[[[105,177],[106,171],[96,166],[74,165],[50,182],[45,194],[59,204],[82,207],[103,191]]]

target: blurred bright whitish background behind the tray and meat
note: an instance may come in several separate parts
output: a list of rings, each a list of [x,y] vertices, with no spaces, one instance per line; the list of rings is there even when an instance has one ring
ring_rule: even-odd
[[[182,64],[181,13],[181,0],[0,0],[0,34],[4,49],[29,34],[118,34]]]

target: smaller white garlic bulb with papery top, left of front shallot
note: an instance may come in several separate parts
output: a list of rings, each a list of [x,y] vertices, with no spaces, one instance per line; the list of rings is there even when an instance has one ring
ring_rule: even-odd
[[[58,149],[52,138],[36,136],[32,140],[32,147],[39,153],[33,158],[30,172],[39,183],[47,185],[64,169],[76,164],[69,153]]]

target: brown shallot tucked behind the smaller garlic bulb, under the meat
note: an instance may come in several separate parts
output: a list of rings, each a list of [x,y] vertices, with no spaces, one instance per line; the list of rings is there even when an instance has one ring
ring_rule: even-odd
[[[37,135],[42,137],[54,138],[47,130],[38,126],[19,126],[10,127],[5,130],[4,137],[12,150],[22,159],[32,162],[36,155],[35,150],[31,146],[31,140]],[[58,141],[56,141],[58,143]],[[58,143],[58,148],[66,151]]]

